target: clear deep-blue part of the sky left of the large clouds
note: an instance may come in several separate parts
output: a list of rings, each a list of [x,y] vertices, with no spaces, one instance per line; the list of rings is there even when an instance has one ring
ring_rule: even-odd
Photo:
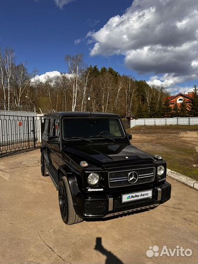
[[[12,47],[17,62],[27,62],[30,71],[66,71],[66,54],[83,53],[86,64],[113,66],[131,74],[120,58],[90,57],[85,38],[100,29],[110,17],[122,14],[129,0],[75,0],[60,9],[53,0],[7,0],[1,2],[0,46]],[[12,8],[11,8],[12,7]],[[94,25],[95,24],[95,25]]]

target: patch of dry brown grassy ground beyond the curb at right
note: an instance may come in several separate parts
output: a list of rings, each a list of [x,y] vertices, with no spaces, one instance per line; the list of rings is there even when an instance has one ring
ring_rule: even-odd
[[[136,126],[131,143],[160,154],[169,169],[198,180],[198,126]]]

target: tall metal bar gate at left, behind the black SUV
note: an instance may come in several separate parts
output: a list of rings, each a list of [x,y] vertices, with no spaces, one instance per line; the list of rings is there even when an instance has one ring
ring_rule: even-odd
[[[42,142],[43,116],[0,114],[0,156],[37,148]]]

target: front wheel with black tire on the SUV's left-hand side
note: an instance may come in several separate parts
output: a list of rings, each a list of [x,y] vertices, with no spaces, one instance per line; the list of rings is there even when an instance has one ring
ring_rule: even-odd
[[[61,211],[61,217],[65,224],[75,224],[83,221],[79,217],[73,207],[73,200],[71,197],[71,191],[66,176],[61,175],[59,181],[59,207]]]

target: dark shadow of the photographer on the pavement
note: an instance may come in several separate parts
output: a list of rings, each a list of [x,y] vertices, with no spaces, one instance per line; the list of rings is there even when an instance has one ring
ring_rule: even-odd
[[[123,262],[118,259],[112,252],[104,248],[104,246],[102,245],[102,238],[96,238],[94,249],[107,257],[105,264],[123,264]]]

